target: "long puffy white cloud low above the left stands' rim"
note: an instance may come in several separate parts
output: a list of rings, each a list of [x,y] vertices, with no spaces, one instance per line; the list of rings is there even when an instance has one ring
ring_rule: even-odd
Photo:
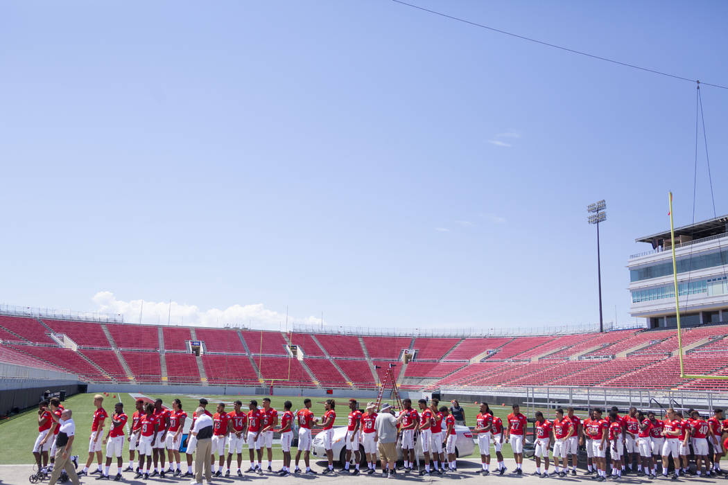
[[[231,305],[228,308],[210,308],[202,310],[197,305],[186,305],[178,302],[153,302],[147,300],[117,300],[111,292],[98,292],[92,298],[100,313],[121,315],[128,323],[138,323],[139,313],[144,324],[166,324],[167,314],[170,323],[189,326],[266,326],[277,328],[285,325],[285,313],[265,308],[262,303],[249,305]],[[288,324],[320,324],[318,317],[293,318],[288,316]]]

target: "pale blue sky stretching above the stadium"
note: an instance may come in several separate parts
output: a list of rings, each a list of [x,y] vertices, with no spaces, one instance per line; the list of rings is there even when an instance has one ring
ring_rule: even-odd
[[[722,1],[413,0],[728,84]],[[144,321],[598,321],[692,218],[695,87],[387,0],[5,2],[0,301]],[[728,213],[728,90],[704,88]],[[705,158],[697,218],[712,216]],[[100,293],[101,292],[101,293]],[[95,296],[96,295],[96,296]],[[156,305],[155,303],[156,302]],[[237,306],[236,306],[237,305]],[[149,312],[149,313],[147,313]],[[132,316],[136,313],[136,316]],[[162,315],[162,316],[160,316]]]

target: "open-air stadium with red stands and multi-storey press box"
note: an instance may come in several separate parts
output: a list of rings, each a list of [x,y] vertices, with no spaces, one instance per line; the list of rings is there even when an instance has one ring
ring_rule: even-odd
[[[41,399],[47,406],[47,399],[55,396],[77,409],[88,405],[94,395],[107,396],[112,403],[118,396],[126,404],[124,409],[133,409],[140,399],[164,402],[173,396],[182,397],[185,409],[194,407],[199,396],[228,406],[238,396],[266,397],[280,409],[282,399],[309,397],[316,400],[314,414],[324,415],[324,399],[371,401],[377,409],[392,401],[397,412],[404,412],[403,398],[411,402],[438,399],[462,402],[471,420],[478,414],[479,403],[488,402],[494,407],[499,404],[491,416],[505,422],[512,405],[523,406],[531,422],[537,412],[552,414],[567,407],[588,412],[616,406],[625,416],[628,410],[639,409],[659,419],[673,410],[687,415],[695,409],[702,416],[713,416],[716,409],[728,405],[728,381],[721,380],[728,375],[728,324],[724,322],[728,288],[723,276],[728,265],[721,246],[728,238],[727,224],[728,216],[724,216],[677,228],[677,239],[669,232],[637,239],[654,248],[634,254],[628,262],[632,311],[645,318],[639,328],[608,325],[604,332],[563,328],[528,335],[385,334],[343,328],[326,332],[315,326],[274,332],[242,326],[128,324],[118,316],[94,321],[52,310],[4,307],[0,412],[11,416],[12,424],[3,426],[32,426],[29,420],[37,415],[34,410]],[[675,295],[664,284],[670,276],[666,261],[671,266],[671,252],[665,249],[671,249],[673,240],[679,241],[675,247],[683,322],[679,332],[670,305]],[[702,378],[687,377],[681,365]],[[88,412],[92,414],[93,409]],[[334,418],[332,424],[340,425],[342,418]],[[526,456],[534,452],[538,425],[534,424],[531,441],[526,435]],[[187,427],[189,433],[189,423]],[[462,439],[474,441],[472,427],[464,429]],[[716,439],[720,434],[716,430]],[[27,446],[32,448],[30,442]],[[316,446],[323,445],[314,440],[314,457],[325,457],[321,449],[316,452]],[[454,453],[459,456],[464,450],[461,443]],[[344,452],[336,450],[336,462],[348,471]],[[274,456],[278,459],[280,453],[277,447]],[[510,459],[513,454],[507,456]],[[628,452],[626,456],[636,455]],[[578,453],[574,457],[578,460]],[[28,458],[25,453],[7,460],[28,462]],[[222,473],[222,461],[218,473]],[[133,460],[129,466],[133,469]],[[591,470],[591,462],[588,466]],[[37,465],[35,469],[31,478],[47,478],[38,473]],[[252,459],[251,470],[255,470]],[[707,463],[706,470],[710,470]],[[156,471],[155,459],[152,473]],[[537,471],[548,473],[547,469]],[[162,460],[162,476],[163,472]],[[171,462],[167,473],[175,476]],[[229,461],[226,473],[230,473]],[[242,476],[240,465],[238,474]],[[148,475],[138,473],[136,478]]]

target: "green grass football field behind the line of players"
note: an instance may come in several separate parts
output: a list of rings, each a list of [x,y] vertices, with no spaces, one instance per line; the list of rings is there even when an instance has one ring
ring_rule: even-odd
[[[104,398],[103,407],[109,414],[114,412],[114,404],[121,401],[124,403],[124,411],[131,416],[135,411],[134,399],[128,393],[114,394],[108,393],[109,396]],[[203,396],[204,394],[200,394]],[[79,454],[79,462],[84,462],[88,456],[88,440],[91,434],[91,417],[94,412],[93,405],[94,394],[77,394],[66,399],[63,406],[70,408],[74,412],[74,421],[76,422],[76,440],[74,441],[74,454]],[[116,397],[114,397],[116,396]],[[165,406],[171,406],[173,398],[180,398],[182,401],[182,407],[186,412],[191,413],[197,407],[197,397],[183,396],[177,394],[145,394],[145,396],[156,399],[162,398]],[[207,409],[210,412],[215,412],[215,405],[218,402],[232,403],[237,399],[240,399],[243,403],[243,409],[248,409],[248,401],[250,399],[257,399],[258,404],[261,405],[261,401],[265,396],[210,396],[204,395],[209,401]],[[270,396],[272,406],[278,409],[279,412],[283,409],[283,402],[290,400],[293,403],[293,409],[301,409],[303,407],[304,397],[301,396]],[[326,398],[312,398],[313,405],[312,411],[316,416],[321,416],[324,412],[324,401]],[[375,399],[372,398],[371,401]],[[349,414],[348,398],[336,399],[336,425],[343,426],[347,424],[347,415]],[[449,403],[444,403],[448,404]],[[461,406],[465,409],[465,418],[467,425],[471,427],[475,424],[475,416],[478,414],[478,406],[475,404],[461,403]],[[365,403],[360,401],[360,408],[364,408]],[[416,407],[416,403],[414,404]],[[510,406],[491,406],[491,410],[505,421],[505,417],[510,413]],[[226,411],[232,411],[232,404],[226,405]],[[550,414],[549,414],[550,417]],[[0,436],[3,436],[4,442],[12,446],[4,446],[4,452],[0,454],[1,465],[13,465],[13,464],[29,464],[35,462],[33,459],[33,444],[35,443],[36,437],[38,436],[37,428],[38,412],[37,409],[28,410],[20,413],[17,416],[11,417],[7,420],[0,421]],[[107,420],[104,428],[104,436],[108,426],[111,424],[110,420]],[[106,456],[106,449],[103,450],[104,456]],[[478,457],[478,445],[475,445],[475,452],[472,457]],[[503,446],[503,455],[507,458],[513,457],[510,451],[510,446]],[[124,447],[124,462],[128,460],[129,454],[127,447]],[[243,450],[244,459],[248,456],[248,452]],[[266,455],[264,453],[264,460]],[[274,445],[273,447],[273,459],[282,459],[282,452],[280,447]]]

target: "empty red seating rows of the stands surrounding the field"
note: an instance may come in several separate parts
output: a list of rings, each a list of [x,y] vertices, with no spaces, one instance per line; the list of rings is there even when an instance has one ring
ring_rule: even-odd
[[[106,337],[105,326],[113,341]],[[164,337],[162,350],[159,350],[160,328]],[[49,337],[50,329],[66,334],[79,349],[60,348]],[[303,364],[289,358],[286,337],[276,331],[100,324],[45,318],[39,321],[0,316],[0,340],[4,341],[0,345],[0,362],[60,369],[78,374],[87,382],[128,382],[130,376],[114,350],[117,348],[136,382],[165,382],[162,376],[166,374],[166,381],[170,383],[204,384],[197,357],[186,352],[189,350],[186,342],[197,339],[205,342],[201,360],[210,384],[270,385],[273,381],[274,385],[307,387],[316,382],[327,388],[352,385],[376,388],[372,369],[378,367],[374,372],[381,380],[389,364],[393,364],[395,378],[403,374],[403,388],[411,389],[558,385],[728,390],[727,380],[678,377],[678,360],[669,356],[676,349],[675,330],[624,330],[546,337],[419,337],[414,340],[411,337],[301,333],[290,334],[289,338],[303,351]],[[700,345],[689,350],[685,357],[686,372],[728,376],[727,325],[685,329],[682,339],[684,345],[694,342]],[[411,344],[417,350],[415,360],[402,373],[403,363],[398,358]],[[638,346],[642,348],[634,350],[627,358],[614,358]],[[595,347],[600,348],[590,350]],[[367,361],[364,349],[371,361]],[[492,352],[480,357],[480,362],[468,362],[488,350]],[[165,353],[164,369],[160,351]],[[577,357],[579,360],[569,360]],[[251,358],[254,364],[251,364]],[[345,375],[331,364],[330,358]],[[539,361],[531,362],[535,358]]]

